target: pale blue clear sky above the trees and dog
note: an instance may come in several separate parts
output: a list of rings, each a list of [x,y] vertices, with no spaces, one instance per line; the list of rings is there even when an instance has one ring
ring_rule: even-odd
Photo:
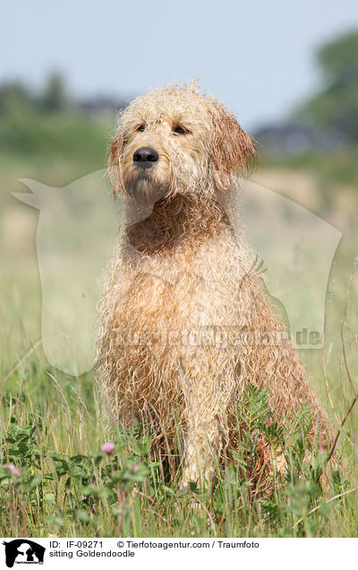
[[[358,30],[357,0],[17,0],[2,3],[0,82],[64,73],[77,98],[130,99],[200,80],[244,128],[277,121],[320,86],[317,47]]]

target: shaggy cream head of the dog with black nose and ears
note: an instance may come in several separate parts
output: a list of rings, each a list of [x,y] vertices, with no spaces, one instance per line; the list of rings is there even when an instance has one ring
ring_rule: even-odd
[[[135,99],[118,120],[108,160],[114,192],[143,205],[228,190],[255,156],[251,138],[216,99],[167,87]]]

